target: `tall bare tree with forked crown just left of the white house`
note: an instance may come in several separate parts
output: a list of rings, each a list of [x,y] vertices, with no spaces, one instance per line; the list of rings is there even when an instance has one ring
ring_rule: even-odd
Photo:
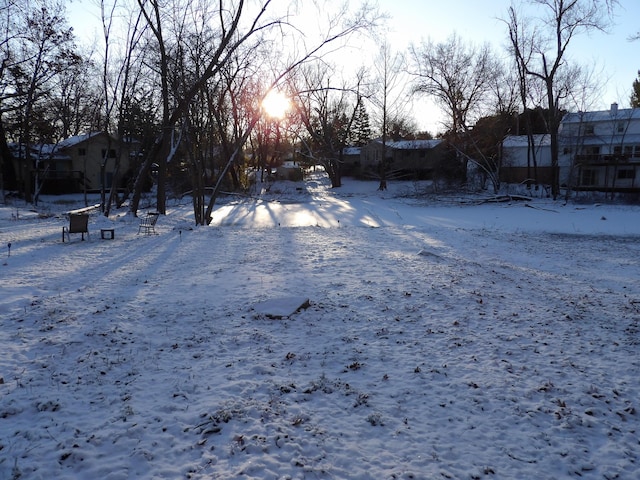
[[[543,82],[546,91],[547,125],[551,142],[551,167],[554,178],[553,198],[560,192],[558,172],[558,130],[562,105],[559,103],[558,78],[566,64],[566,53],[572,39],[583,32],[604,31],[610,24],[610,14],[616,0],[529,0],[537,7],[538,17],[521,20],[515,7],[509,9],[509,32],[516,62],[526,75]],[[538,25],[530,36],[514,36],[522,31],[522,23]],[[517,40],[517,41],[515,41]],[[526,52],[531,51],[531,55]]]

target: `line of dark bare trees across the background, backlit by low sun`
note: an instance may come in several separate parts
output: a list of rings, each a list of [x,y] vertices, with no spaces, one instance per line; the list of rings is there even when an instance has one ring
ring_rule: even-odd
[[[597,87],[593,72],[571,61],[571,42],[610,28],[617,7],[616,0],[522,0],[502,19],[506,51],[452,34],[406,52],[378,42],[368,62],[345,68],[340,52],[383,35],[386,16],[375,3],[276,3],[93,0],[100,38],[86,45],[68,23],[65,2],[0,0],[3,192],[11,178],[31,178],[14,165],[22,173],[37,169],[27,160],[30,149],[103,131],[139,140],[143,152],[124,192],[116,188],[125,174],[120,153],[102,159],[103,171],[115,162],[111,188],[101,187],[106,215],[125,201],[135,215],[153,169],[158,211],[166,212],[170,191],[189,192],[196,223],[207,224],[222,189],[247,189],[251,168],[262,175],[293,148],[301,161],[322,164],[338,187],[346,146],[373,136],[383,149],[389,139],[430,138],[407,114],[412,99],[436,102],[445,114],[438,133],[456,158],[474,162],[498,188],[499,142],[507,133],[531,141],[550,134],[558,166],[561,115],[588,109]],[[284,118],[262,108],[271,90],[290,100]],[[33,181],[18,189],[37,200]]]

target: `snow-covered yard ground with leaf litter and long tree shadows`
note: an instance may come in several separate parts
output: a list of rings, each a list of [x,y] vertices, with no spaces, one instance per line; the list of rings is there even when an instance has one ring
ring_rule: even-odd
[[[376,187],[0,205],[0,479],[640,478],[640,207]]]

